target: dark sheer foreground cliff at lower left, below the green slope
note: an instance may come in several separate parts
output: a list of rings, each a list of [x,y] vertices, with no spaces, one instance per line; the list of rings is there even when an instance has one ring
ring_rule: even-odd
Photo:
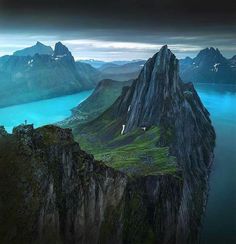
[[[1,243],[175,243],[182,182],[131,179],[71,131],[19,126],[0,137]]]

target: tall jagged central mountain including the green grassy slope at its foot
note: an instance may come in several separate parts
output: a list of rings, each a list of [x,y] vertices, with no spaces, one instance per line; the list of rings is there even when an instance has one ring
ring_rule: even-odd
[[[110,108],[95,120],[78,125],[74,134],[82,148],[108,166],[135,179],[143,178],[143,184],[148,184],[146,177],[151,175],[150,189],[160,185],[160,175],[180,179],[177,196],[168,193],[180,199],[176,212],[153,205],[156,210],[151,216],[157,213],[157,219],[147,224],[152,242],[145,239],[148,232],[141,229],[139,216],[132,222],[140,231],[137,235],[145,236],[142,243],[198,242],[215,132],[193,85],[181,81],[178,60],[167,46],[146,62],[139,77]],[[166,225],[161,220],[157,226],[155,223],[165,214],[172,227],[160,234],[159,228]]]

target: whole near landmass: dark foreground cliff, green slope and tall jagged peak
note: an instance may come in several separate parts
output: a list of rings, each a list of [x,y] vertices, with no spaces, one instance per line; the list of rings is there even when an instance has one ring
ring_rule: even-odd
[[[167,46],[74,132],[0,127],[1,243],[197,243],[215,133]]]

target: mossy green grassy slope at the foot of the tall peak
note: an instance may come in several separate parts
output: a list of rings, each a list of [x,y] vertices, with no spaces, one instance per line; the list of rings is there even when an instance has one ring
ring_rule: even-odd
[[[156,146],[160,137],[159,127],[153,126],[147,131],[137,128],[106,143],[99,140],[99,136],[96,139],[94,136],[78,136],[77,139],[81,147],[97,160],[129,175],[174,174],[177,170],[169,148]]]

